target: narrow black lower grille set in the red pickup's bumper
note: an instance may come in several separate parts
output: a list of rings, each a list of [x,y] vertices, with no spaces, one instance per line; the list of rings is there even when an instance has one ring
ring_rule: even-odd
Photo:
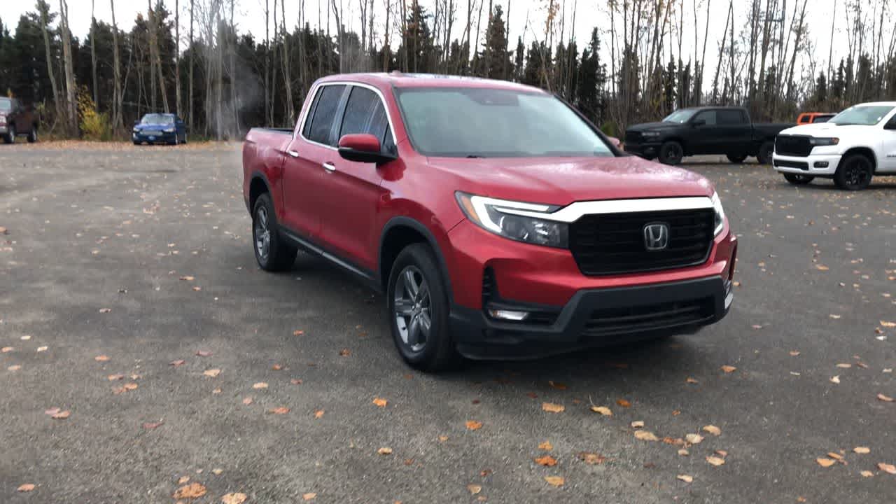
[[[582,335],[611,336],[702,324],[714,316],[713,309],[712,298],[597,309],[591,313]]]

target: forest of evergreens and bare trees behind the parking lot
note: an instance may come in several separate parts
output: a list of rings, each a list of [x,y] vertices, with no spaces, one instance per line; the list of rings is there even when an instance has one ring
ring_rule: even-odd
[[[118,25],[109,0],[112,18],[94,17],[79,39],[66,0],[38,0],[19,20],[0,19],[0,93],[34,104],[45,134],[87,138],[121,135],[149,111],[177,112],[192,134],[217,138],[292,126],[315,79],[347,72],[526,83],[613,135],[686,106],[792,121],[801,109],[896,97],[893,0],[831,0],[832,20],[813,17],[809,0],[728,0],[724,20],[710,9],[725,0],[599,0],[603,22],[583,39],[577,0],[524,0],[516,40],[512,0],[319,0],[314,16],[294,0],[289,20],[285,0],[254,1],[263,34],[238,32],[235,0],[147,0],[131,26]],[[532,9],[543,24],[529,22]],[[830,30],[829,54],[817,54],[810,29]]]

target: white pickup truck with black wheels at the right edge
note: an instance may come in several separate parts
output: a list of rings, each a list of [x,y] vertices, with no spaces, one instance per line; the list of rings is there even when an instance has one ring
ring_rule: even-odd
[[[862,103],[821,124],[785,129],[775,139],[775,169],[795,185],[833,178],[841,189],[896,175],[896,101]]]

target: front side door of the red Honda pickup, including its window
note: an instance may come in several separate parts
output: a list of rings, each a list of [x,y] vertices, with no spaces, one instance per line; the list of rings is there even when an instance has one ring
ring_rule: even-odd
[[[392,129],[380,92],[365,84],[352,84],[336,138],[369,134],[380,140],[384,151],[394,148]],[[350,265],[369,274],[375,271],[380,239],[375,227],[376,208],[385,191],[383,177],[373,163],[342,159],[338,153],[323,175],[321,189],[321,239],[326,248]]]

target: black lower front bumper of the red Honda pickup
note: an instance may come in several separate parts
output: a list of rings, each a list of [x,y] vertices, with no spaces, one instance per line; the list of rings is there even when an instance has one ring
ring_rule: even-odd
[[[454,306],[450,324],[458,352],[467,358],[537,358],[660,335],[693,334],[728,314],[734,300],[731,286],[728,278],[715,276],[579,291],[550,324],[498,321],[482,310]]]

